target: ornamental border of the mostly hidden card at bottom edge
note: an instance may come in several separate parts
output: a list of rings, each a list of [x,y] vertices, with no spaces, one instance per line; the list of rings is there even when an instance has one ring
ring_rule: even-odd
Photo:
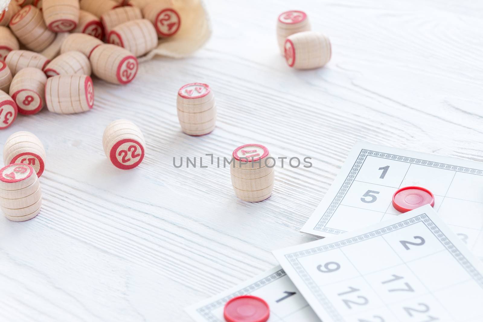
[[[219,322],[220,320],[218,320],[218,318],[216,318],[213,315],[214,309],[219,308],[221,306],[224,306],[225,303],[227,303],[233,297],[253,293],[254,291],[262,288],[263,286],[265,286],[265,285],[267,285],[267,284],[269,284],[269,283],[271,283],[275,280],[279,280],[279,279],[283,278],[284,276],[286,276],[285,271],[283,269],[279,269],[276,272],[274,272],[273,274],[270,274],[270,276],[267,276],[267,277],[265,277],[261,280],[257,280],[256,282],[254,282],[250,285],[247,285],[246,287],[244,287],[244,288],[242,288],[242,289],[240,289],[240,290],[238,290],[238,291],[236,291],[232,294],[224,296],[223,298],[220,298],[216,301],[213,301],[210,304],[207,304],[207,305],[205,305],[201,308],[198,308],[197,311],[203,318],[206,319],[206,321]]]

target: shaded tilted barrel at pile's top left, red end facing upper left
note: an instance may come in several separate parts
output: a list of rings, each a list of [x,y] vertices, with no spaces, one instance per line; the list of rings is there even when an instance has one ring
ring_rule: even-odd
[[[56,38],[56,34],[45,26],[40,10],[30,4],[14,15],[9,26],[21,43],[36,52],[45,49]]]

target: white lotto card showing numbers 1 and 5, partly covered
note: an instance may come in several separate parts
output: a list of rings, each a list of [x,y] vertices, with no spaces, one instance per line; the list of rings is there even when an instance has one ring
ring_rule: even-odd
[[[483,259],[483,164],[358,142],[326,196],[301,231],[335,236],[397,217],[399,188],[419,186],[434,195],[434,209]]]

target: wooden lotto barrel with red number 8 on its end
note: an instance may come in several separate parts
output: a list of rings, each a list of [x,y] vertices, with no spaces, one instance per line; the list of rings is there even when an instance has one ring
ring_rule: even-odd
[[[27,67],[16,73],[10,84],[10,96],[20,114],[35,114],[43,108],[47,76],[42,70]]]

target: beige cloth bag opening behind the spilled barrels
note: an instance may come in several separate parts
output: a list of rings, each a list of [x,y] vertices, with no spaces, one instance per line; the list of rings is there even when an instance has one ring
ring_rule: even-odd
[[[155,49],[138,58],[140,62],[152,59],[156,55],[173,58],[190,56],[210,39],[212,29],[203,0],[171,1],[173,9],[180,15],[181,24],[178,32],[172,37],[160,39]],[[0,0],[0,12],[9,2]]]

